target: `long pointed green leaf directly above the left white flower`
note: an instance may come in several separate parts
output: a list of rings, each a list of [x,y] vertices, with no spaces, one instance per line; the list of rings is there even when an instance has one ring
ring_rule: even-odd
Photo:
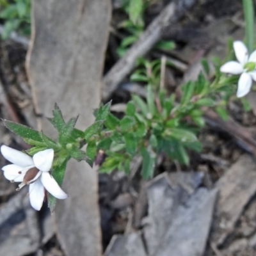
[[[40,136],[40,132],[31,129],[26,125],[17,124],[12,121],[3,120],[3,122],[5,127],[8,128],[10,131],[14,132],[24,140],[30,141],[30,145],[44,145],[44,141]]]

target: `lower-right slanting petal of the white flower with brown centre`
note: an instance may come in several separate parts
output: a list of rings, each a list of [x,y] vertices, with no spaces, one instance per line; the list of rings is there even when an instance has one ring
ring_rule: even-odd
[[[45,189],[58,199],[65,199],[68,195],[60,188],[56,180],[53,179],[49,172],[43,172],[41,182]]]

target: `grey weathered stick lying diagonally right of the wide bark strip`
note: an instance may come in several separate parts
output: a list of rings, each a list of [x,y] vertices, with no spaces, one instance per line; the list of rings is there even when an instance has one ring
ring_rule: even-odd
[[[196,0],[175,0],[164,8],[140,36],[138,42],[132,45],[125,56],[104,77],[103,100],[108,99],[111,93],[115,91],[118,83],[131,72],[137,58],[145,55],[161,39],[164,28],[175,24],[195,2]]]

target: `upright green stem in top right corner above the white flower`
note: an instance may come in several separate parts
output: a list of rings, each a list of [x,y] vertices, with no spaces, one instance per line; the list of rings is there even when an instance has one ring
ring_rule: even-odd
[[[254,6],[253,0],[243,0],[245,38],[246,45],[250,53],[254,49]]]

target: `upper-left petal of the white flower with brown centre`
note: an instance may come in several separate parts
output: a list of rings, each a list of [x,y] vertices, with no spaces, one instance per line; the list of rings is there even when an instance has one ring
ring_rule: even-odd
[[[34,165],[32,157],[20,152],[19,150],[3,145],[1,147],[1,153],[3,154],[5,159],[13,164],[17,164],[22,167]]]

